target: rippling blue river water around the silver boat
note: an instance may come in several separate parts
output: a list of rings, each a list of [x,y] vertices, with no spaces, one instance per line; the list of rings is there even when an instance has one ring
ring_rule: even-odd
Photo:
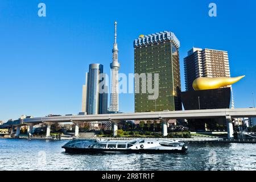
[[[256,144],[188,143],[185,154],[67,154],[65,140],[0,139],[0,170],[256,170]]]

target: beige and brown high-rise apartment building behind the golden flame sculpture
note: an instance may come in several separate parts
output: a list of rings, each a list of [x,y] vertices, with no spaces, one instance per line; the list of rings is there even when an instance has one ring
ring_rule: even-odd
[[[184,58],[185,88],[193,90],[192,83],[198,77],[230,77],[227,51],[192,48]]]

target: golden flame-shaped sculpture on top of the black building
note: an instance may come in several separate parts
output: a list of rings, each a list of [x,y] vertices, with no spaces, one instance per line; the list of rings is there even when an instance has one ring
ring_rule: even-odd
[[[193,81],[193,88],[195,90],[208,90],[208,89],[218,89],[222,86],[232,85],[245,76],[238,76],[234,78],[229,77],[216,77],[216,78],[207,78],[199,77]]]

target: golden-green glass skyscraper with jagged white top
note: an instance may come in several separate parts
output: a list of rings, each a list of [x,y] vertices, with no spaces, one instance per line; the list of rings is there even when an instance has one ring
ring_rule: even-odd
[[[181,110],[180,42],[170,31],[141,35],[134,40],[134,73],[159,74],[159,96],[148,100],[150,93],[135,93],[135,112]],[[154,83],[154,80],[152,80]]]

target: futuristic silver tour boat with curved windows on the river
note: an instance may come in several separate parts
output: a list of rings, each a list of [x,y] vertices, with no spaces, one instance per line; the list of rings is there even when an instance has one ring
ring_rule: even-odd
[[[185,152],[185,143],[171,139],[74,139],[62,148],[66,152]]]

